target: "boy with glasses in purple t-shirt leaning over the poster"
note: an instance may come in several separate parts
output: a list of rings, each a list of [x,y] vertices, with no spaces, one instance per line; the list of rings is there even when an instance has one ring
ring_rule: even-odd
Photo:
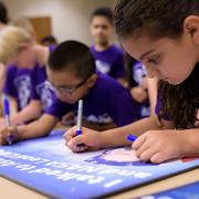
[[[64,114],[76,111],[80,98],[84,101],[83,124],[90,123],[95,129],[107,128],[112,122],[123,126],[136,119],[128,91],[95,72],[95,60],[83,43],[66,41],[57,45],[50,55],[46,74],[56,94],[52,106],[29,125],[2,128],[2,144],[7,144],[8,132],[15,142],[48,135]]]

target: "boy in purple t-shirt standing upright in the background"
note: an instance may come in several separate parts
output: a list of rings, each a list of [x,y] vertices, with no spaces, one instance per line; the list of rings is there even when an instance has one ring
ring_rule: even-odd
[[[111,43],[113,13],[109,8],[98,8],[91,17],[91,33],[95,44],[91,51],[96,60],[96,70],[124,83],[124,52]]]

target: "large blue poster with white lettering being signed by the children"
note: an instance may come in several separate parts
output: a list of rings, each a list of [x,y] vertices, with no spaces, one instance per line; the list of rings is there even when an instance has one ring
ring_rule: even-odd
[[[129,147],[75,154],[62,132],[0,147],[0,175],[54,198],[96,198],[179,174],[199,159],[140,161]]]

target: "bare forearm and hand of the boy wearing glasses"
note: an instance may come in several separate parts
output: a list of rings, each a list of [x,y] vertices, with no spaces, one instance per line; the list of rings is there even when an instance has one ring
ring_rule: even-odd
[[[40,119],[23,126],[0,127],[0,145],[7,144],[10,135],[13,136],[13,142],[30,139],[35,137],[46,136],[56,125],[57,118],[44,114]]]

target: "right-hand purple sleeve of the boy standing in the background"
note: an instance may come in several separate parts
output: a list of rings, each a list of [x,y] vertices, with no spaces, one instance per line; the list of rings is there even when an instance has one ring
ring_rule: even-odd
[[[124,53],[121,51],[117,53],[117,56],[114,60],[113,69],[111,71],[111,76],[114,78],[119,78],[125,76],[125,67],[124,67]]]

